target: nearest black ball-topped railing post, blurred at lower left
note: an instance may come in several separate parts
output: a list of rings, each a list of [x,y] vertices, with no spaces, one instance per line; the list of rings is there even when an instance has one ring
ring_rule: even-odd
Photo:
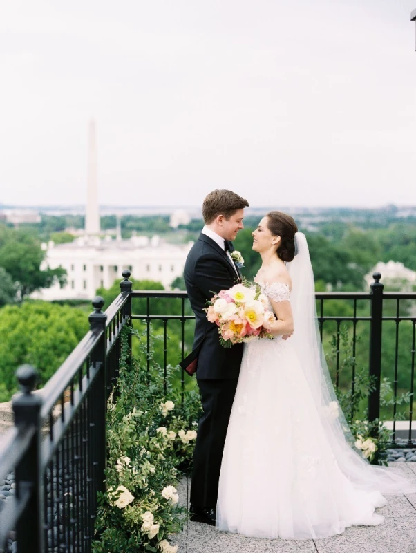
[[[19,553],[44,552],[44,496],[41,474],[41,419],[42,398],[34,394],[37,381],[35,368],[21,365],[16,371],[21,394],[13,397],[15,425],[34,427],[30,446],[15,467],[16,496],[30,490],[30,499],[17,521],[17,550]]]

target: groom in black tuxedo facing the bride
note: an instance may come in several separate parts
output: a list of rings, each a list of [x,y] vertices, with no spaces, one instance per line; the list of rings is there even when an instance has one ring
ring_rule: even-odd
[[[203,415],[198,425],[191,485],[191,520],[215,525],[218,479],[231,406],[236,393],[243,344],[220,345],[218,327],[204,308],[214,292],[238,282],[231,240],[243,229],[249,203],[229,190],[210,192],[202,204],[205,227],[185,263],[184,278],[196,325],[193,350],[180,364],[196,371]]]

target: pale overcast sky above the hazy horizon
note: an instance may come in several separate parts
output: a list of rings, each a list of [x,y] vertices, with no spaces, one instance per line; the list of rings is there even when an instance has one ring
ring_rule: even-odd
[[[0,203],[416,205],[415,8],[3,1]]]

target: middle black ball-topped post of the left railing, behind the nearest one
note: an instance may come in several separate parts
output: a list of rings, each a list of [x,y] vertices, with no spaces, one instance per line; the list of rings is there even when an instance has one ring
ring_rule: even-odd
[[[89,402],[93,407],[90,411],[91,423],[94,424],[93,434],[96,451],[93,453],[93,464],[95,466],[95,485],[98,491],[105,491],[104,470],[107,459],[107,441],[106,441],[106,417],[107,417],[107,375],[106,375],[106,355],[107,355],[107,337],[106,337],[106,313],[102,312],[104,299],[96,296],[93,299],[94,311],[88,317],[91,332],[101,332],[100,340],[91,353],[91,364],[100,364],[100,370],[97,374],[93,386],[95,391],[93,402]],[[96,402],[96,404],[94,404]],[[90,423],[90,424],[91,424]]]

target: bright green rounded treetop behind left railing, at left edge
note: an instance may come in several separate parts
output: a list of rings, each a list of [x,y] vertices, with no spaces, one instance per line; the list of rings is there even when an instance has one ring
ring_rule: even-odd
[[[52,305],[46,301],[24,302],[0,309],[1,395],[9,400],[16,391],[15,372],[29,363],[45,384],[77,346],[88,330],[82,310]]]

